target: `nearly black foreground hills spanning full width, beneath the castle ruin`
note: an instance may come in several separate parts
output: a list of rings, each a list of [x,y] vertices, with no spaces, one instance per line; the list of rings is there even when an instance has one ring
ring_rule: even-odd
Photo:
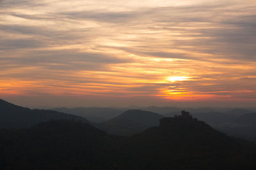
[[[52,120],[0,129],[0,169],[255,169],[256,145],[202,121],[161,118],[131,137],[90,124]]]

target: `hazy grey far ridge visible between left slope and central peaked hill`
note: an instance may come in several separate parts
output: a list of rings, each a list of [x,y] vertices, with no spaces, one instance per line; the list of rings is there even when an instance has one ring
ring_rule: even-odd
[[[53,108],[52,110],[77,115],[79,117],[86,118],[91,122],[99,123],[109,120],[123,113],[125,109],[120,108]]]

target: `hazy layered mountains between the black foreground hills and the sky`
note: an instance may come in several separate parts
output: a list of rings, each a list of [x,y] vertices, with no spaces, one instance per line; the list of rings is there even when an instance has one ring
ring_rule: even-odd
[[[109,134],[131,136],[148,127],[156,126],[159,118],[174,117],[180,113],[174,107],[152,106],[145,110],[129,110],[125,108],[56,108],[52,110],[31,110],[16,106],[0,99],[0,128],[20,129],[49,120],[79,120],[106,131]],[[156,111],[156,113],[153,112]],[[197,108],[188,111],[220,110],[214,108]],[[230,136],[256,141],[256,113],[246,109],[221,109],[225,112],[191,112],[193,117],[202,120],[221,132]],[[65,113],[61,113],[61,111]],[[158,112],[157,112],[158,111]],[[173,112],[168,112],[173,111]],[[68,114],[69,113],[69,114]],[[71,115],[71,114],[74,115]],[[161,114],[157,114],[161,113]],[[80,116],[77,116],[80,115]],[[93,123],[89,120],[93,120]]]

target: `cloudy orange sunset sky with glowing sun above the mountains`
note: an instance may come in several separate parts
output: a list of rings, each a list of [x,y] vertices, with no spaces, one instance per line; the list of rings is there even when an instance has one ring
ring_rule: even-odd
[[[255,53],[255,0],[0,0],[0,98],[22,106],[253,107]]]

